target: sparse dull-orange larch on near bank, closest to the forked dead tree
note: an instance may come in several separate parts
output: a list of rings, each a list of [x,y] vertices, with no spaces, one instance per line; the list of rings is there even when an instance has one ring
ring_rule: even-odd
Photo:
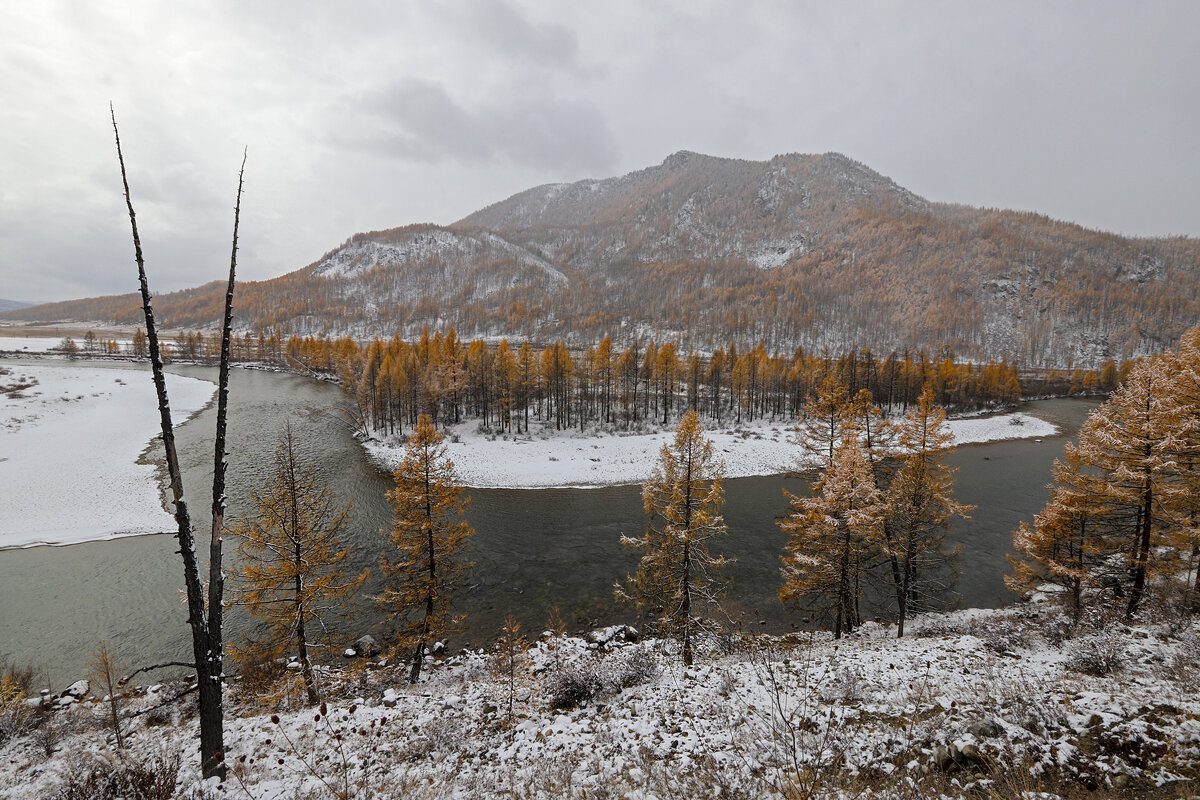
[[[236,602],[265,622],[254,655],[280,657],[293,648],[308,703],[319,699],[310,646],[326,612],[358,590],[367,573],[348,578],[343,535],[349,504],[337,503],[317,467],[296,452],[289,422],[280,437],[264,488],[250,493],[253,511],[230,527],[241,557]],[[318,645],[319,646],[319,645]]]

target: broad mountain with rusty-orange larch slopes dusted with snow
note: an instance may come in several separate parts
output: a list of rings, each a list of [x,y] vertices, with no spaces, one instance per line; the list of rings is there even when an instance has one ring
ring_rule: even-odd
[[[211,326],[220,284],[160,295]],[[451,225],[350,236],[239,288],[252,329],[359,337],[674,338],[715,348],[949,347],[1024,363],[1160,350],[1200,319],[1200,242],[930,203],[840,154],[682,151],[620,178],[551,184]],[[136,295],[0,314],[133,324]]]

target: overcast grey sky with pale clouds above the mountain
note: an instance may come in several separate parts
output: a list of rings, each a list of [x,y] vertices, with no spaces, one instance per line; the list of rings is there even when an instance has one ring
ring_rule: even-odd
[[[1200,235],[1200,2],[5,2],[0,297],[305,266],[677,150]]]

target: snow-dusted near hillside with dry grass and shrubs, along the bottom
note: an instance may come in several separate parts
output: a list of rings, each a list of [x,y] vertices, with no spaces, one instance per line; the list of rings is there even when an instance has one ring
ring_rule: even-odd
[[[181,763],[180,798],[1190,796],[1200,626],[1096,620],[1066,636],[1063,622],[1042,603],[965,610],[899,640],[875,624],[840,642],[751,637],[692,668],[673,644],[608,628],[539,642],[511,684],[482,651],[432,663],[415,686],[403,666],[356,662],[324,673],[325,714],[272,717],[260,697],[227,714],[230,776],[209,793],[197,792],[194,696],[132,720],[128,758]],[[556,703],[570,685],[590,697]],[[293,703],[301,694],[293,686]],[[68,753],[113,763],[107,706],[58,703],[61,740],[49,756],[36,734],[10,744],[0,798],[52,796]]]

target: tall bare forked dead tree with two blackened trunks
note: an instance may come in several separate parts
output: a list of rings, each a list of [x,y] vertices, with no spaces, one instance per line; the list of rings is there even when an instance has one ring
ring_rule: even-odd
[[[224,709],[222,696],[222,606],[224,581],[221,575],[221,529],[224,524],[224,474],[226,474],[226,415],[229,397],[229,329],[233,323],[233,289],[238,267],[238,222],[241,216],[241,187],[246,172],[246,156],[242,154],[241,169],[238,173],[238,200],[233,212],[233,252],[229,257],[229,283],[226,289],[224,319],[221,327],[221,367],[217,379],[217,431],[216,455],[212,470],[212,529],[209,542],[209,588],[205,607],[204,587],[200,583],[200,570],[196,558],[196,539],[192,533],[192,519],[184,498],[184,475],[179,467],[179,455],[175,450],[175,432],[170,419],[170,403],[167,399],[167,377],[163,371],[162,351],[158,344],[158,327],[150,305],[150,287],[146,282],[145,260],[142,255],[142,240],[138,236],[137,215],[133,212],[133,200],[130,197],[130,181],[125,172],[125,155],[121,152],[121,134],[116,127],[116,113],[109,107],[113,118],[113,136],[116,139],[116,160],[121,166],[121,185],[125,188],[125,206],[130,212],[130,227],[133,231],[133,257],[138,265],[138,284],[142,290],[142,309],[146,321],[146,342],[150,350],[150,368],[154,374],[155,391],[158,395],[158,417],[162,426],[162,444],[167,455],[167,474],[170,477],[170,495],[175,505],[175,524],[178,527],[179,554],[184,559],[184,584],[187,594],[187,624],[192,628],[192,660],[196,668],[197,694],[199,696],[200,717],[200,769],[205,777],[224,778]]]

